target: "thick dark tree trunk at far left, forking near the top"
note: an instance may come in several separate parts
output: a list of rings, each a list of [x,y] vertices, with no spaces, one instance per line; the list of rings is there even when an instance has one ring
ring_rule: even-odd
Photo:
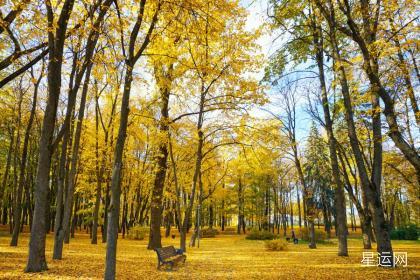
[[[45,259],[45,233],[46,211],[48,209],[49,172],[51,167],[51,156],[53,154],[53,134],[57,114],[58,100],[61,90],[61,68],[63,61],[64,41],[67,30],[67,23],[73,10],[74,0],[66,0],[61,10],[57,28],[54,28],[54,13],[51,3],[47,2],[48,17],[48,98],[42,124],[41,139],[39,142],[39,160],[35,183],[35,209],[34,223],[31,228],[29,241],[29,256],[26,265],[26,272],[40,272],[47,268]],[[54,32],[55,31],[55,34]]]

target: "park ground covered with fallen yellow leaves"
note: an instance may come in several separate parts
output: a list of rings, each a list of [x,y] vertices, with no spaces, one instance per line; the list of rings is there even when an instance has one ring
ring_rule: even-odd
[[[105,244],[91,245],[89,235],[77,233],[65,244],[63,260],[52,260],[53,235],[47,236],[49,270],[24,273],[29,234],[19,238],[18,247],[10,247],[10,236],[0,232],[1,279],[101,279],[105,262]],[[179,240],[164,238],[163,245]],[[337,256],[336,240],[318,244],[289,244],[287,251],[268,252],[263,241],[245,236],[218,235],[202,239],[200,248],[188,248],[185,265],[175,271],[156,269],[156,253],[147,250],[147,240],[119,238],[117,279],[420,279],[420,241],[393,241],[394,251],[408,253],[408,267],[363,267],[362,242],[349,238],[349,257]],[[372,250],[373,252],[373,250]]]

